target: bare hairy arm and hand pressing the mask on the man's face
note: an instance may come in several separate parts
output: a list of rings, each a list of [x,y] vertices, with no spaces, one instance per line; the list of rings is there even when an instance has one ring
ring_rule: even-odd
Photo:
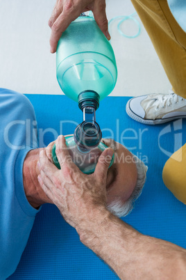
[[[105,181],[112,149],[101,154],[94,173],[87,176],[69,161],[65,148],[65,138],[58,137],[60,170],[42,151],[38,180],[65,220],[76,228],[81,242],[121,279],[185,279],[185,249],[142,235],[106,209]]]

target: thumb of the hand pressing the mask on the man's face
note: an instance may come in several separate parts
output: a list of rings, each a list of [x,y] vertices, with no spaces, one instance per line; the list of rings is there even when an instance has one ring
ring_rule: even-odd
[[[106,181],[108,167],[110,166],[113,153],[114,150],[112,150],[112,148],[107,148],[99,157],[99,161],[96,164],[96,169],[94,171],[94,176],[96,176],[96,179],[100,182]]]

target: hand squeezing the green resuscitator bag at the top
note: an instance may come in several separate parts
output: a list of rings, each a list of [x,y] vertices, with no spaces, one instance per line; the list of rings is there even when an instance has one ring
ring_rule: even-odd
[[[57,0],[56,6],[49,19],[51,27],[51,53],[56,52],[58,40],[69,24],[76,20],[81,13],[92,10],[94,18],[101,31],[110,40],[108,20],[105,13],[105,0]]]

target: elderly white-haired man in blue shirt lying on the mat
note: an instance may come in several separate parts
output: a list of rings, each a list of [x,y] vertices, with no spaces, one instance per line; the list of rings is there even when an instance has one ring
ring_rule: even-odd
[[[52,202],[37,180],[39,154],[47,148],[37,148],[37,123],[31,102],[20,93],[1,88],[0,111],[0,279],[6,279],[15,272],[40,205]],[[108,209],[122,217],[140,196],[147,168],[121,144],[112,139],[102,141],[115,151],[106,184]]]

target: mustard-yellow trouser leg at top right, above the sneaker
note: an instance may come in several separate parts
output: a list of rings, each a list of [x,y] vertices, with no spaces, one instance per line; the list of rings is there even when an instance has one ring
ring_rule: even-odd
[[[131,2],[149,33],[174,92],[186,98],[186,33],[171,14],[167,0]]]

